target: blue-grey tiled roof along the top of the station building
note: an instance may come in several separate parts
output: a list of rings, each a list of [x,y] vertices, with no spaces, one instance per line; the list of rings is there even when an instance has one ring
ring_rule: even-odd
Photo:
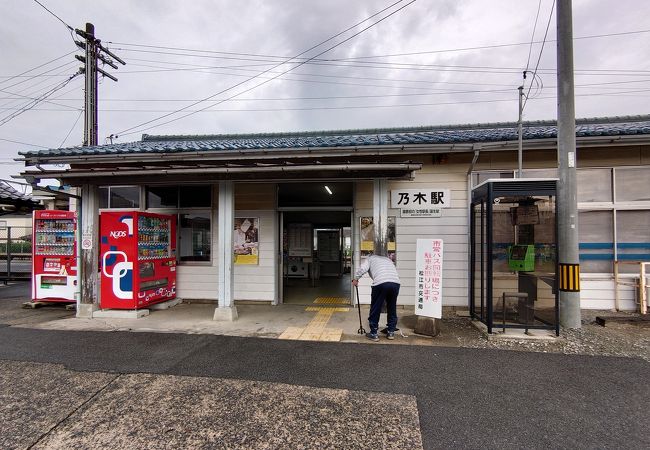
[[[649,135],[650,116],[582,119],[576,121],[577,137]],[[525,122],[523,138],[557,137],[555,121]],[[176,153],[211,150],[304,149],[488,143],[517,140],[516,123],[450,125],[418,128],[338,130],[298,133],[222,134],[200,136],[150,136],[141,141],[20,152],[25,157],[110,155],[133,153]]]

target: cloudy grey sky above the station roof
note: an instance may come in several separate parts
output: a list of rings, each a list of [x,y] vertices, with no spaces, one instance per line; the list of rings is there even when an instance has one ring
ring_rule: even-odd
[[[397,0],[39,1],[127,63],[100,81],[100,143],[516,121],[524,69],[524,118],[556,117],[553,0],[405,0],[340,35]],[[42,6],[0,15],[7,179],[18,151],[82,143],[83,77],[61,87],[81,52]],[[574,0],[573,22],[577,117],[648,113],[650,3]]]

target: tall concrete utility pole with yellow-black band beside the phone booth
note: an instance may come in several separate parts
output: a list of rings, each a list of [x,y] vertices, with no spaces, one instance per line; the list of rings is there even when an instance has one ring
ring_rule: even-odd
[[[580,255],[571,0],[557,2],[558,287],[560,325],[580,328]]]

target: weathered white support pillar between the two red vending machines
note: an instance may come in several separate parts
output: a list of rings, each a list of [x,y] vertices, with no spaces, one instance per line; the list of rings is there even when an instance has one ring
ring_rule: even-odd
[[[99,195],[95,185],[81,187],[81,212],[78,215],[82,237],[90,238],[89,249],[80,249],[77,270],[80,298],[77,317],[92,318],[99,309],[97,261],[99,261]],[[80,239],[81,242],[83,239]]]

